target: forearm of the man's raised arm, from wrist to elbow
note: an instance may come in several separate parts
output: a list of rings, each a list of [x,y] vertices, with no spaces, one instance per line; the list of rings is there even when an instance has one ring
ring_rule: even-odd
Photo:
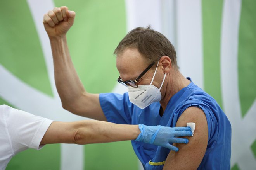
[[[54,60],[55,83],[63,105],[71,104],[85,89],[71,61],[66,36],[50,37]]]

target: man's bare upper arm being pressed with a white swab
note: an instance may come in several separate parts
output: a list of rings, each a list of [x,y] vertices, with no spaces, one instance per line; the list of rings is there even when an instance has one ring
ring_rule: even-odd
[[[197,107],[189,107],[178,119],[176,126],[187,126],[187,122],[195,123],[194,136],[186,137],[189,143],[173,143],[178,152],[170,151],[164,164],[164,170],[197,169],[204,157],[208,143],[208,125],[204,112]]]

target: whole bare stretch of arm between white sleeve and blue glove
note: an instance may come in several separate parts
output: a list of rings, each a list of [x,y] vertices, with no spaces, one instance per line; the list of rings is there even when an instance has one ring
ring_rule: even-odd
[[[114,124],[105,121],[54,121],[47,129],[41,144],[50,143],[106,143],[133,140],[138,137],[138,125]]]

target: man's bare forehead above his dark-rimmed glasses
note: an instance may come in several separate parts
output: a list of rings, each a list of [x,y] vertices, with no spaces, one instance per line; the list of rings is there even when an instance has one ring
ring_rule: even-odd
[[[116,57],[116,68],[122,80],[133,80],[147,68],[147,60],[136,48],[128,48]]]

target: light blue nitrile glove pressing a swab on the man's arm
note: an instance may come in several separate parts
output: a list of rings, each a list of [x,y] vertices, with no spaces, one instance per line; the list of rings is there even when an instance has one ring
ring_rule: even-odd
[[[139,136],[135,141],[141,141],[178,151],[179,149],[170,143],[188,143],[185,138],[176,138],[180,136],[192,136],[190,127],[166,127],[166,126],[146,126],[138,124],[140,129]]]

